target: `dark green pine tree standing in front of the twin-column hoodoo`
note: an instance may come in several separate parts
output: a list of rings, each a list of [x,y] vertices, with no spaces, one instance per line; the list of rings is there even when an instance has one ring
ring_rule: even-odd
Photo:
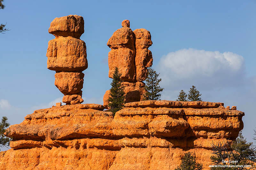
[[[113,112],[115,115],[118,110],[121,110],[124,107],[124,86],[121,84],[121,74],[118,72],[118,68],[115,68],[113,74],[113,80],[111,83],[110,96],[108,98],[108,107],[109,111]]]

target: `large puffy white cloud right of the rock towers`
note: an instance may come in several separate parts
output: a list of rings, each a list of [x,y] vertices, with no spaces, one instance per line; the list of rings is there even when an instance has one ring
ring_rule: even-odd
[[[244,58],[232,52],[180,49],[163,56],[156,70],[165,89],[238,86],[244,79]]]

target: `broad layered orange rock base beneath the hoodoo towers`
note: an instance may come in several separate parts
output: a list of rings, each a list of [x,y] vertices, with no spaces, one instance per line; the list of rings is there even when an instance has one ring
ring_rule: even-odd
[[[34,111],[10,129],[0,169],[173,170],[186,152],[209,169],[211,143],[235,139],[244,113],[223,103],[139,101],[116,112],[97,104]]]

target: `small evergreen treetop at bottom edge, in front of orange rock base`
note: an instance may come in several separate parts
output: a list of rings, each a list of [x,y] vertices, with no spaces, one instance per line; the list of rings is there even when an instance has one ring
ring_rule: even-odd
[[[192,155],[191,152],[185,153],[181,158],[180,166],[175,168],[175,170],[202,170],[203,165],[196,163],[196,156]]]

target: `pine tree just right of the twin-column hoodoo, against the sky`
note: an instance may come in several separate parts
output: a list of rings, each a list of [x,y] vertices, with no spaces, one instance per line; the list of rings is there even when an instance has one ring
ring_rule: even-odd
[[[158,78],[159,74],[152,68],[148,68],[148,75],[146,78],[145,94],[143,100],[160,100],[161,93],[164,88],[161,88],[159,83],[162,80]]]

